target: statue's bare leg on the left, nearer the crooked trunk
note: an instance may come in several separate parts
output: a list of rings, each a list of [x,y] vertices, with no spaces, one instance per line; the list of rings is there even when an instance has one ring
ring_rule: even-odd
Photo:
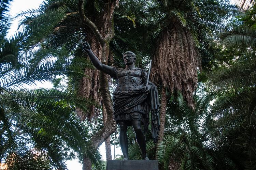
[[[119,142],[124,155],[124,159],[129,159],[128,156],[128,138],[127,138],[127,124],[123,121],[118,122],[120,127]]]

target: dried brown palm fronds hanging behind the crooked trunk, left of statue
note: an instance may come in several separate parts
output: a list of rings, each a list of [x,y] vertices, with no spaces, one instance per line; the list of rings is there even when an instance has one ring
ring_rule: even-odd
[[[98,24],[97,27],[100,30],[100,34],[102,35],[102,37],[106,36],[106,33],[108,32],[108,20],[111,16],[109,16],[109,12],[111,9],[111,7],[109,7],[109,3],[111,3],[111,1],[106,2],[106,4],[104,4],[105,6],[107,6],[105,8],[105,12],[103,13],[102,16],[98,16],[98,18],[96,18],[96,23]],[[113,7],[113,6],[112,6]],[[86,30],[86,29],[85,29]],[[103,63],[103,54],[102,54],[102,46],[100,44],[99,41],[97,41],[96,36],[94,35],[94,33],[92,31],[85,31],[85,34],[87,35],[85,37],[85,41],[89,42],[90,46],[91,46],[91,50],[93,51],[93,53],[95,54],[96,57],[98,57],[98,59]],[[84,55],[87,56],[86,53],[84,53]],[[106,55],[109,58],[109,55]],[[105,60],[108,61],[109,59],[106,58]],[[85,69],[85,74],[88,75],[88,77],[84,77],[81,80],[81,84],[80,84],[80,90],[79,90],[79,95],[85,98],[91,98],[93,99],[96,103],[100,104],[101,99],[102,99],[102,95],[100,93],[100,75],[99,75],[99,70],[97,69],[91,69],[91,68],[86,68]],[[109,79],[109,83],[110,83],[110,76],[108,76]],[[90,106],[88,109],[87,113],[82,112],[81,110],[77,109],[77,115],[80,117],[81,121],[84,120],[96,120],[99,116],[99,109],[95,106]]]

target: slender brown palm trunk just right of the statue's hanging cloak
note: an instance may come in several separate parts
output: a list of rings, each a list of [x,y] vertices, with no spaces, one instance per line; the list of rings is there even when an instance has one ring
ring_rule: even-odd
[[[159,115],[160,116],[160,129],[159,129],[159,136],[158,136],[157,145],[161,141],[163,141],[163,131],[165,129],[166,103],[167,103],[166,89],[165,89],[165,87],[162,87],[161,109],[160,109],[160,115]]]

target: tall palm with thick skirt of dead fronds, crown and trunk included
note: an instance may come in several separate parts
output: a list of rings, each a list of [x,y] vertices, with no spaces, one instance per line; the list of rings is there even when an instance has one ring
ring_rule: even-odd
[[[223,19],[235,14],[237,7],[218,0],[155,0],[147,11],[151,14],[147,24],[157,38],[151,80],[162,84],[160,142],[165,124],[166,90],[170,94],[180,91],[188,106],[195,108],[193,92],[197,87],[197,69],[201,68],[199,48],[205,48],[209,37],[216,37],[224,28]]]

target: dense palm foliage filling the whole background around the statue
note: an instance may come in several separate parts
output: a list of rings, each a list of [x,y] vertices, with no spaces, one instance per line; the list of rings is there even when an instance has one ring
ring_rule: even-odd
[[[127,50],[138,67],[153,60],[163,138],[146,139],[159,169],[256,169],[256,5],[244,12],[228,0],[81,2],[44,1],[18,14],[22,31],[7,38],[10,1],[0,0],[0,163],[66,169],[77,157],[83,169],[105,168],[91,140],[112,119],[102,101],[116,82],[100,82],[82,52],[86,40],[108,65],[124,67]],[[84,24],[81,9],[94,25]],[[111,28],[104,54],[99,34]],[[44,81],[54,88],[24,88]],[[127,133],[129,158],[141,159],[133,129]]]

